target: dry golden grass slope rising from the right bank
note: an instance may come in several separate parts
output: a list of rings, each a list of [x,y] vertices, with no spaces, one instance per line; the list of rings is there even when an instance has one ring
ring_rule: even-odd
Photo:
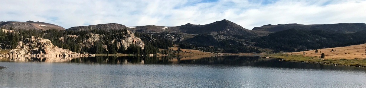
[[[305,52],[304,56],[319,58],[321,53],[324,53],[325,54],[324,59],[355,59],[355,58],[365,58],[366,57],[365,56],[365,47],[366,47],[366,43],[361,44],[361,45],[352,45],[352,46],[346,46],[346,47],[318,49],[318,53],[315,53],[315,50],[309,50],[309,51],[300,51],[300,52],[293,52],[293,53],[286,53],[286,54],[302,55],[303,52]],[[334,51],[332,51],[332,49]]]

